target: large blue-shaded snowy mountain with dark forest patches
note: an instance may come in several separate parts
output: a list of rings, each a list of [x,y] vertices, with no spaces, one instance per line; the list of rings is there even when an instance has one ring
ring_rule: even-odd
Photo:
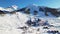
[[[60,16],[60,12],[57,11],[55,8],[49,8],[49,7],[44,7],[44,6],[37,6],[37,5],[28,5],[25,8],[22,8],[20,10],[26,14],[31,14],[31,15],[37,15],[40,17],[56,17]]]

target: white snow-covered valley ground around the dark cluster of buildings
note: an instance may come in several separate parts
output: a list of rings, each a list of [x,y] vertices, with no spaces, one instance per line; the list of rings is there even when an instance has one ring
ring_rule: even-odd
[[[33,17],[33,16],[30,16]],[[39,27],[29,27],[28,30],[17,29],[18,27],[27,26],[25,22],[29,19],[29,15],[23,14],[21,12],[17,12],[16,14],[5,14],[4,16],[0,16],[0,34],[47,34],[44,30],[44,26]],[[48,20],[48,22],[55,26],[60,26],[60,21],[56,21],[56,19],[49,18],[41,18],[42,20]],[[27,26],[28,27],[28,26]],[[37,29],[40,31],[37,31]],[[53,27],[55,30],[59,30],[60,28]],[[50,30],[52,27],[50,28]]]

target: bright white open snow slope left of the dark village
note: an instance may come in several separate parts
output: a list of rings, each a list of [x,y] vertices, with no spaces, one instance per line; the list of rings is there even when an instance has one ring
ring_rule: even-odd
[[[27,15],[20,12],[0,16],[0,34],[20,34],[22,30],[19,32],[17,28],[25,26],[24,22],[26,22],[27,19]]]

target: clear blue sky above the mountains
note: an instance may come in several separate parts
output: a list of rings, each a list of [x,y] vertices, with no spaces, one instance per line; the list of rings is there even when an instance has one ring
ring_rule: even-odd
[[[29,4],[59,8],[60,0],[0,0],[0,7],[17,5],[19,8],[22,8]]]

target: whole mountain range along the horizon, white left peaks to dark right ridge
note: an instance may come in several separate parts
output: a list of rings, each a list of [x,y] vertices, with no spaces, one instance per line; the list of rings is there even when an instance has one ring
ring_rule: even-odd
[[[17,6],[14,6],[17,7]],[[22,12],[28,15],[35,15],[39,17],[59,17],[60,9],[50,8],[45,6],[36,6],[36,5],[28,5],[21,9],[16,9],[13,7],[6,8],[5,10],[0,10],[0,14],[2,13],[15,13]]]

